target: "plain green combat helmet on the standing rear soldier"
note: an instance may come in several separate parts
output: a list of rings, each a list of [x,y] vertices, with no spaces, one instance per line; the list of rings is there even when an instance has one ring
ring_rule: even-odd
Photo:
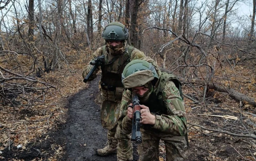
[[[102,31],[102,37],[109,41],[127,40],[128,34],[128,29],[120,22],[111,22]]]

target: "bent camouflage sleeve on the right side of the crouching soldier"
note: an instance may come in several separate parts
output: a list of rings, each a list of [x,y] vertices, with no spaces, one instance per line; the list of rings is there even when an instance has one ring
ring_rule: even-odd
[[[187,133],[187,114],[180,92],[172,81],[168,81],[163,91],[164,102],[170,115],[156,116],[153,128],[176,136],[185,136]]]

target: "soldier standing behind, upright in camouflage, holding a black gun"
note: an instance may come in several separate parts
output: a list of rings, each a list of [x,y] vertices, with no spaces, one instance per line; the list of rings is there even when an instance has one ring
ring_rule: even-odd
[[[120,135],[118,133],[115,137],[117,127],[117,119],[119,117],[120,103],[122,99],[122,93],[124,91],[122,85],[122,72],[124,67],[133,59],[146,58],[143,52],[133,48],[133,45],[127,44],[128,29],[119,22],[109,23],[102,32],[102,37],[106,41],[106,45],[100,47],[93,53],[93,58],[101,55],[105,55],[105,64],[99,66],[94,71],[88,81],[96,78],[96,73],[101,69],[101,79],[99,87],[102,93],[103,102],[101,106],[100,118],[101,124],[104,128],[108,129],[107,132],[107,146],[103,149],[97,149],[98,155],[104,156],[110,153],[116,153],[117,139],[119,139],[121,145],[117,152],[117,158],[119,160],[133,160],[132,158],[132,144],[128,139],[128,135]],[[152,59],[151,63],[155,63]],[[92,69],[92,65],[87,65],[82,73],[83,78]],[[126,146],[129,152],[122,154],[122,146]]]

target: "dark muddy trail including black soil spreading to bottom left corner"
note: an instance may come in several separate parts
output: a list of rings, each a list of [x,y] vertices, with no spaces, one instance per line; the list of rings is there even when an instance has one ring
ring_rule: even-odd
[[[94,101],[100,96],[98,82],[99,78],[88,82],[88,88],[68,99],[65,124],[58,125],[55,132],[29,143],[26,151],[16,147],[8,151],[6,148],[2,155],[5,160],[47,160],[58,155],[58,161],[116,161],[116,154],[101,157],[95,153],[96,149],[105,147],[107,142],[107,130],[100,122],[100,106]]]

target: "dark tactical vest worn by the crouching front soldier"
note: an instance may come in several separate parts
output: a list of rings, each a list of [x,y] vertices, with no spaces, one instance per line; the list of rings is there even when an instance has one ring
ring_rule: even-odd
[[[149,111],[153,112],[154,114],[173,115],[171,111],[168,111],[168,108],[166,107],[166,104],[164,103],[164,99],[162,96],[164,86],[168,80],[171,80],[175,84],[177,89],[180,91],[180,96],[183,100],[181,82],[174,75],[168,74],[166,72],[162,72],[159,85],[157,86],[156,89],[154,89],[153,93],[150,94],[148,102],[143,103],[143,105],[149,107]]]

